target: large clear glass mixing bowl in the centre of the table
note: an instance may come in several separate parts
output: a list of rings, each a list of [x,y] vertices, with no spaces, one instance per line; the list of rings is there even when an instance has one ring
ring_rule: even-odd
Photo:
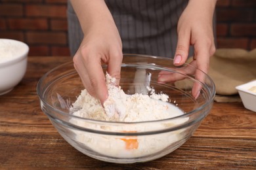
[[[106,65],[102,68],[106,71]],[[173,152],[185,143],[211,110],[215,96],[213,80],[205,75],[204,82],[200,82],[193,75],[186,75],[188,70],[205,75],[192,65],[175,67],[173,59],[169,58],[137,54],[125,54],[123,57],[120,86],[125,93],[145,93],[143,87],[153,86],[157,93],[169,95],[169,103],[184,112],[181,116],[165,120],[104,122],[74,116],[70,107],[84,87],[72,62],[45,74],[37,84],[37,94],[41,109],[53,126],[83,154],[114,163],[150,161]],[[145,80],[140,76],[142,80],[135,81],[138,71],[145,75]],[[160,71],[171,73],[176,80],[158,83]],[[192,96],[195,83],[202,86],[197,99]],[[137,148],[129,148],[133,144],[137,144]]]

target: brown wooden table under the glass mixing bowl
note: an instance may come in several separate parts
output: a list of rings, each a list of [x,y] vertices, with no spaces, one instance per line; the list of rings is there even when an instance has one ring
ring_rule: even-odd
[[[22,82],[0,96],[0,169],[256,169],[256,113],[242,103],[214,103],[196,133],[158,160],[119,165],[85,156],[60,137],[36,93],[39,78],[66,61],[29,57]]]

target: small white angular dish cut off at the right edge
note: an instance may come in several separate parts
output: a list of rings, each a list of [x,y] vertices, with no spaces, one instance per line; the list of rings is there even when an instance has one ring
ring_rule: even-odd
[[[240,86],[236,86],[236,90],[243,101],[244,107],[246,109],[256,112],[256,92],[251,91],[250,89],[256,87],[256,80],[247,82]]]

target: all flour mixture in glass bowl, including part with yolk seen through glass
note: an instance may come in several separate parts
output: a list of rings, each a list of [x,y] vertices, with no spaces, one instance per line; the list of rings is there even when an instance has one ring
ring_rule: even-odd
[[[163,120],[184,114],[175,105],[167,103],[168,96],[165,94],[156,94],[154,89],[148,88],[151,94],[142,95],[135,93],[127,95],[120,87],[114,86],[115,79],[106,75],[109,97],[104,103],[105,109],[100,102],[91,97],[87,90],[83,90],[77,97],[77,101],[70,109],[75,116],[89,118],[94,120],[114,121],[114,122],[144,122],[149,120]],[[186,121],[179,120],[176,124]],[[102,126],[100,124],[86,124],[83,121],[70,120],[78,126],[88,127],[95,130],[104,131],[148,131],[171,127],[175,124],[143,124],[131,126]],[[113,156],[117,158],[133,158],[154,154],[165,149],[169,144],[181,140],[180,133],[183,130],[175,132],[161,133],[158,135],[144,135],[134,137],[119,137],[115,135],[100,135],[95,133],[86,133],[74,130],[75,139],[79,143],[89,146],[95,152]]]

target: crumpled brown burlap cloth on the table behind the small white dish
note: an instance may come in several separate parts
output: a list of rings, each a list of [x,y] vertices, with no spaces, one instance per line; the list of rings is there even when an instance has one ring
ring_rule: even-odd
[[[256,49],[249,52],[238,48],[217,49],[210,58],[208,75],[215,82],[215,101],[241,101],[236,86],[256,79]]]

